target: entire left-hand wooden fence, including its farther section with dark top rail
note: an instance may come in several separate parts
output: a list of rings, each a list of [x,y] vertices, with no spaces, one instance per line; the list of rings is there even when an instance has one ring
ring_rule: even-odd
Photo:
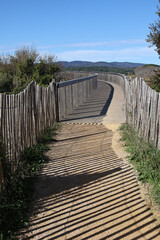
[[[79,75],[80,76],[80,75]],[[16,95],[0,93],[0,137],[12,171],[16,169],[25,147],[34,145],[46,127],[78,107],[96,88],[97,76],[75,79],[40,87],[34,81]],[[3,165],[0,159],[0,190]]]

